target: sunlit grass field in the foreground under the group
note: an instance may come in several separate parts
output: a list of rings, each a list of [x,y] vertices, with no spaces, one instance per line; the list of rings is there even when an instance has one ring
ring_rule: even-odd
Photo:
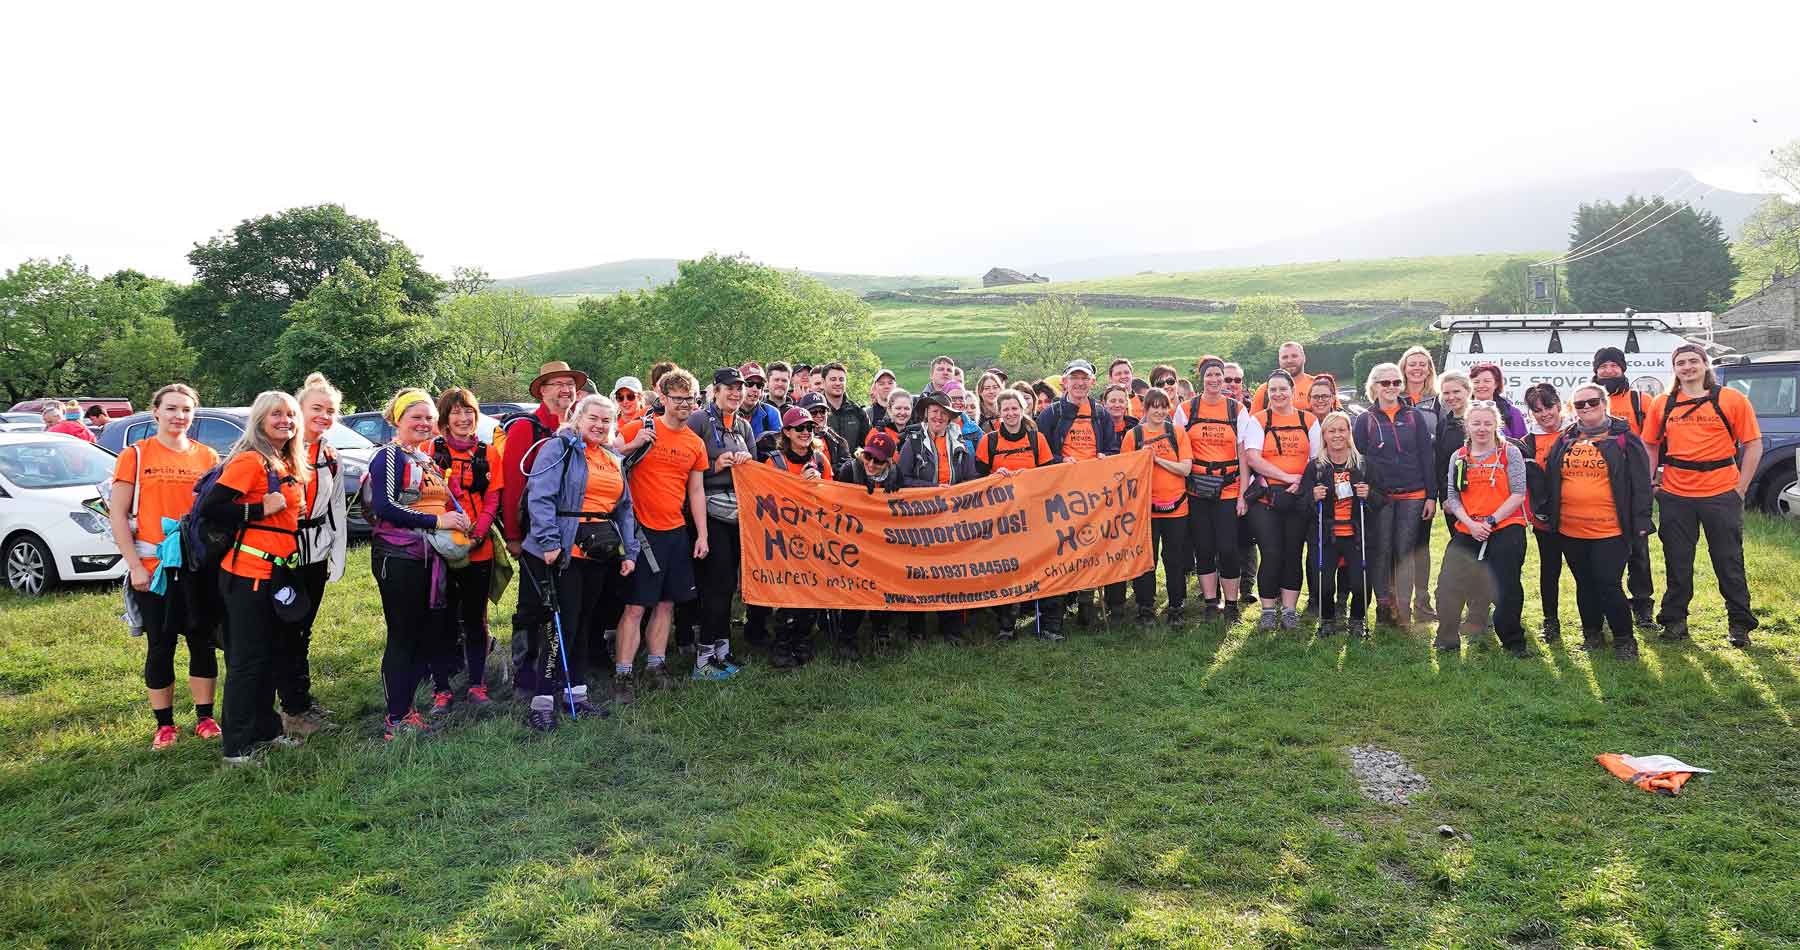
[[[1543,644],[1442,657],[1424,633],[1121,626],[752,666],[551,738],[502,705],[398,745],[376,734],[380,608],[355,549],[315,646],[346,727],[245,770],[191,736],[149,750],[142,644],[113,590],[5,597],[0,934],[1793,946],[1800,531],[1755,516],[1746,543],[1764,617],[1748,651],[1724,646],[1703,561],[1697,641],[1634,666]],[[185,698],[176,712],[191,725]],[[1348,745],[1404,754],[1433,788],[1364,801]],[[1609,750],[1717,774],[1654,797],[1593,763]],[[1472,840],[1440,838],[1445,822]]]

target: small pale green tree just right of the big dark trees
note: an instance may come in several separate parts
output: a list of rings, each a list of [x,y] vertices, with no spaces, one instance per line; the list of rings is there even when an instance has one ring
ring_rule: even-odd
[[[545,360],[569,311],[522,290],[486,290],[452,297],[441,306],[445,378],[482,399],[526,398],[526,385]]]

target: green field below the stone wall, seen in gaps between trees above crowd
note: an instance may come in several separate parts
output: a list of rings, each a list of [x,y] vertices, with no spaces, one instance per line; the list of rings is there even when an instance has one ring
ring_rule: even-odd
[[[895,371],[900,385],[918,392],[931,378],[931,360],[940,354],[958,365],[990,365],[1006,342],[1008,306],[932,306],[875,300],[875,354]],[[1148,376],[1150,365],[1170,362],[1184,371],[1204,353],[1226,347],[1240,327],[1235,313],[1179,313],[1170,309],[1089,308],[1100,324],[1102,353],[1125,356]],[[1337,329],[1354,317],[1312,317],[1312,326]]]

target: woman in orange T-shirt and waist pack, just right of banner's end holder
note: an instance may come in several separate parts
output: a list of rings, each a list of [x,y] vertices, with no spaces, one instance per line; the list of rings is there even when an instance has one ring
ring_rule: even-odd
[[[1242,405],[1226,396],[1226,363],[1201,356],[1201,392],[1181,408],[1193,470],[1188,473],[1188,543],[1206,601],[1202,621],[1219,615],[1219,590],[1226,612],[1238,610],[1238,520],[1244,516],[1244,448],[1238,444]]]

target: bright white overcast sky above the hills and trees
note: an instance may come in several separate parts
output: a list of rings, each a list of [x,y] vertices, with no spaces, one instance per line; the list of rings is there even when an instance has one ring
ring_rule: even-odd
[[[1611,169],[1768,191],[1800,137],[1768,0],[526,7],[9,7],[0,266],[185,279],[338,202],[437,272],[976,273]]]

